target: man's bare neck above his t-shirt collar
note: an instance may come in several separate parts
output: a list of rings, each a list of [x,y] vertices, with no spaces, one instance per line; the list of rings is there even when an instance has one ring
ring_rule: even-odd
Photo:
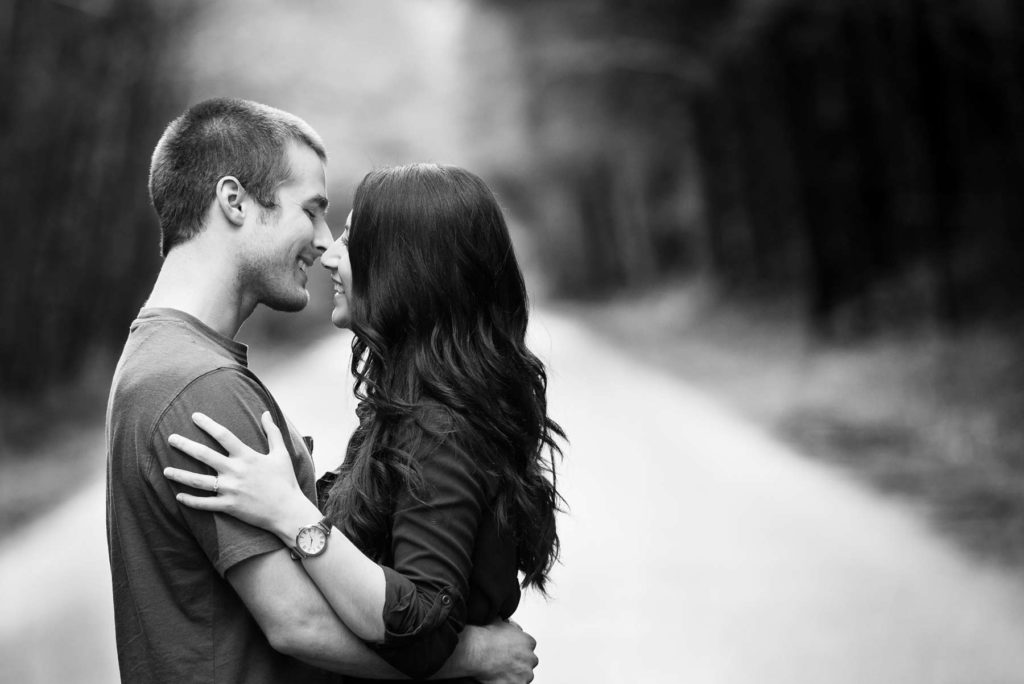
[[[215,250],[195,239],[174,247],[164,258],[145,306],[184,311],[233,339],[256,302],[242,296],[229,262],[212,255]]]

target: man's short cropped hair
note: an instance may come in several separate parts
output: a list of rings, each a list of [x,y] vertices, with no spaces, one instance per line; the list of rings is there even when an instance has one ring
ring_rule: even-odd
[[[234,176],[265,209],[291,176],[290,140],[327,161],[316,131],[298,117],[244,99],[218,97],[189,108],[164,131],[150,165],[150,199],[160,220],[161,254],[203,230],[217,181]]]

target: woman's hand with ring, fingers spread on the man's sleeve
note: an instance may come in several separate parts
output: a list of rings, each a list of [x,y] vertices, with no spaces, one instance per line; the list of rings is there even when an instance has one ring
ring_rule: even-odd
[[[193,422],[224,447],[227,456],[178,434],[168,443],[213,468],[216,475],[204,475],[179,468],[165,468],[164,476],[187,486],[212,491],[210,497],[177,495],[177,500],[200,511],[227,513],[244,522],[278,535],[292,544],[298,527],[315,521],[316,507],[306,499],[295,479],[291,457],[281,430],[269,412],[262,416],[269,454],[260,454],[234,434],[203,414],[193,414]],[[299,522],[296,522],[299,521]]]

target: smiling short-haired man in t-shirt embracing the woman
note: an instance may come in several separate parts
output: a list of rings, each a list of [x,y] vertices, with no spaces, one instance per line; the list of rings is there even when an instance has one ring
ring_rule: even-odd
[[[177,504],[167,443],[204,439],[216,409],[248,443],[281,409],[234,335],[257,304],[297,311],[306,269],[331,244],[326,153],[302,120],[232,99],[168,126],[151,167],[164,264],[118,364],[106,415],[106,519],[118,657],[125,682],[304,682],[325,671],[398,677],[331,610],[273,535]],[[314,499],[309,452],[286,435]],[[209,442],[208,442],[209,443]],[[175,485],[176,486],[176,485]],[[534,640],[514,626],[467,629],[440,673],[529,681]]]

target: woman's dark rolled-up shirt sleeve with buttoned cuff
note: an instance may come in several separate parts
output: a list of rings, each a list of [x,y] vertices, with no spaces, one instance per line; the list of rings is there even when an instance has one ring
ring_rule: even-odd
[[[376,648],[403,674],[425,678],[455,650],[486,477],[472,457],[444,442],[420,459],[425,486],[399,497],[392,524],[393,567],[384,567],[384,643]]]

